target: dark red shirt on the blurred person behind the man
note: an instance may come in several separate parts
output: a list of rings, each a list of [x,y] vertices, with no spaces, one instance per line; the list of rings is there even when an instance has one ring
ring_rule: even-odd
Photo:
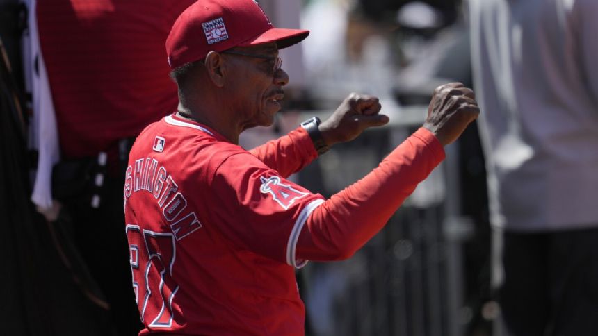
[[[164,44],[195,0],[38,1],[63,158],[116,151],[177,108]]]

